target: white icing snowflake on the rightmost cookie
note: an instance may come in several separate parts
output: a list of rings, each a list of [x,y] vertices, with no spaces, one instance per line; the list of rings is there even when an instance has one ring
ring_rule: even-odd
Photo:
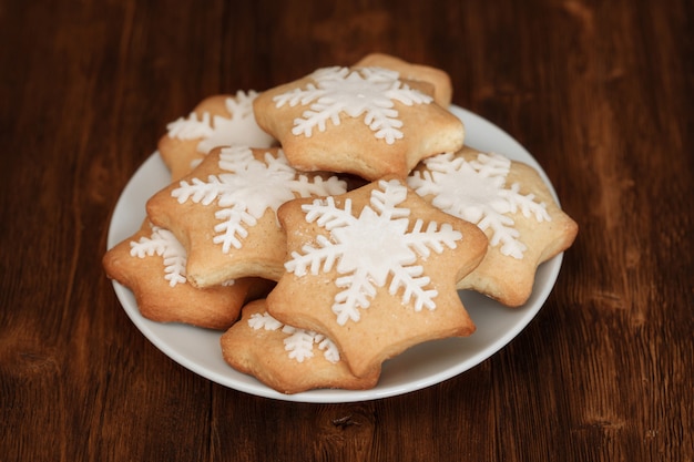
[[[523,258],[528,247],[520,240],[516,222],[509,216],[519,209],[523,216],[538,222],[551,220],[547,205],[534,201],[533,194],[519,193],[520,185],[507,186],[511,161],[499,154],[479,153],[477,160],[466,161],[451,153],[423,161],[423,172],[414,172],[407,183],[419,195],[433,195],[432,205],[441,211],[474,223],[480,229],[491,227],[489,244],[501,245],[501,253]]]

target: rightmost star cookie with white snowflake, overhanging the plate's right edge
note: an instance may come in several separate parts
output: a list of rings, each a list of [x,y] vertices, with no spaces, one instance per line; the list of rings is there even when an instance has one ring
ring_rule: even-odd
[[[538,266],[571,246],[578,225],[529,165],[465,147],[425,160],[407,183],[441,211],[489,238],[482,263],[458,283],[508,306],[523,305]]]

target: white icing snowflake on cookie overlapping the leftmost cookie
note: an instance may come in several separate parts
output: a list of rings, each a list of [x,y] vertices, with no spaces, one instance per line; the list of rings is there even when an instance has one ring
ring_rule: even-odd
[[[277,212],[282,204],[294,199],[295,194],[309,197],[346,191],[346,183],[336,176],[324,181],[320,176],[309,179],[305,174],[297,174],[282,150],[276,152],[276,157],[271,152],[265,153],[261,162],[248,147],[224,147],[218,166],[228,173],[210,175],[207,181],[181,181],[171,192],[180,204],[193,201],[207,206],[216,202],[220,209],[215,217],[220,224],[214,227],[213,242],[221,244],[225,254],[232,247],[242,247],[242,239],[248,235],[246,227],[254,226],[266,209]]]

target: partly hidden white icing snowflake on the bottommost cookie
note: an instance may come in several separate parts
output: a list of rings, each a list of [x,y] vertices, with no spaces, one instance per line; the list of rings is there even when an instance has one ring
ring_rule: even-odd
[[[265,329],[274,331],[282,329],[282,331],[287,335],[284,339],[285,350],[288,351],[288,357],[297,362],[304,362],[305,359],[314,357],[314,345],[318,346],[318,349],[323,351],[323,356],[328,361],[333,363],[339,361],[337,346],[324,335],[314,332],[313,330],[298,329],[283,325],[268,312],[256,312],[252,315],[248,319],[248,326],[255,330]]]

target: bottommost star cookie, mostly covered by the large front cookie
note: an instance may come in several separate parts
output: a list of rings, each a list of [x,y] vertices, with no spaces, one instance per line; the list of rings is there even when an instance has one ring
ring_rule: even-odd
[[[243,308],[242,319],[222,336],[221,346],[229,366],[283,393],[317,388],[365,390],[378,381],[377,374],[355,377],[335,343],[279,322],[267,312],[265,300]]]

